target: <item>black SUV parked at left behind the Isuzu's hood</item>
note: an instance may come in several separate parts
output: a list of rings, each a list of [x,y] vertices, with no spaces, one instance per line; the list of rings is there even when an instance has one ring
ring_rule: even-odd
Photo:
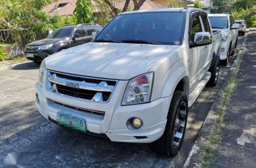
[[[24,53],[27,59],[35,63],[41,63],[50,54],[90,42],[92,40],[92,32],[99,33],[101,29],[102,26],[99,24],[62,26],[50,33],[48,38],[26,45]]]

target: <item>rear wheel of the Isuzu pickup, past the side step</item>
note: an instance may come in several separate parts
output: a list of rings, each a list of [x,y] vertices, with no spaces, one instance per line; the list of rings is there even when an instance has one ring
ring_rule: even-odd
[[[211,68],[208,70],[211,72],[211,78],[209,79],[207,85],[214,87],[218,83],[218,78],[219,78],[219,72],[220,72],[220,59],[218,56],[218,59],[215,60],[215,63]]]

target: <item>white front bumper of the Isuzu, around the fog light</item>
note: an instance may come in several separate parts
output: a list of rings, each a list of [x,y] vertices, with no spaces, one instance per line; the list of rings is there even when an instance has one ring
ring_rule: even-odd
[[[119,82],[108,103],[97,103],[51,93],[36,83],[36,107],[45,119],[57,120],[57,112],[69,112],[85,119],[87,130],[96,134],[105,134],[113,142],[149,143],[159,139],[164,133],[166,116],[169,111],[170,97],[159,98],[141,105],[121,106],[122,91],[127,82]],[[120,94],[121,93],[121,94]],[[95,111],[104,111],[105,116],[94,116],[73,109],[52,104],[52,100],[65,105],[83,107]],[[127,121],[138,117],[143,121],[141,130],[130,130]]]

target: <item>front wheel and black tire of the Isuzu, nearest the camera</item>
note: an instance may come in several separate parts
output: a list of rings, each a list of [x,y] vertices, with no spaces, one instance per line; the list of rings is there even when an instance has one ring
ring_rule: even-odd
[[[175,91],[169,107],[164,134],[150,144],[152,151],[167,157],[173,157],[180,151],[187,125],[187,113],[187,96],[183,91]]]

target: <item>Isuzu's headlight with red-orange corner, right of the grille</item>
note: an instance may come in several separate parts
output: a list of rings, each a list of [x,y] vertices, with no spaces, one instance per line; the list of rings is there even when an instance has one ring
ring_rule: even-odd
[[[122,105],[134,105],[150,101],[153,72],[149,72],[131,79],[125,90]]]

